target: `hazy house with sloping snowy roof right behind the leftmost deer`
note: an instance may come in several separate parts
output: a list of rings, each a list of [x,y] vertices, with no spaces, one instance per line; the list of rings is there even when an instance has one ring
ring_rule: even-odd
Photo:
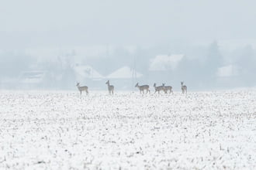
[[[105,76],[102,76],[98,71],[92,68],[92,66],[75,64],[74,74],[77,82],[81,85],[86,84],[91,89],[99,89],[105,86]]]

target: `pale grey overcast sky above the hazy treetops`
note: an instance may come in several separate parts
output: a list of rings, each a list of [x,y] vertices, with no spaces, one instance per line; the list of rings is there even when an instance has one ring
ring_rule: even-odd
[[[254,0],[0,0],[0,49],[250,42]]]

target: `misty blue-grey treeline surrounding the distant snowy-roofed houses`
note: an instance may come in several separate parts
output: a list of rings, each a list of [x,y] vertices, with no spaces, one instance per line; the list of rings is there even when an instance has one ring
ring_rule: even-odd
[[[92,66],[107,76],[122,66],[130,66],[144,74],[143,83],[168,83],[178,87],[181,80],[194,90],[222,89],[230,87],[253,87],[256,80],[256,49],[252,46],[240,46],[236,49],[223,49],[214,41],[206,46],[153,46],[137,47],[128,50],[122,46],[99,56],[77,56],[74,49],[61,55],[38,58],[25,52],[1,50],[0,84],[1,88],[19,88],[22,73],[45,71],[46,77],[40,88],[74,89],[76,76],[75,64]],[[157,55],[183,54],[175,69],[150,70],[150,61]],[[232,66],[234,74],[218,75],[221,68]],[[223,69],[225,72],[225,69]],[[220,73],[219,73],[220,74]],[[121,80],[120,80],[121,81]]]

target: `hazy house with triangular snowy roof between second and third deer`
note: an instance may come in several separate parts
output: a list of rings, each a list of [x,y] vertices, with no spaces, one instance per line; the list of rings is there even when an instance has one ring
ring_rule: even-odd
[[[123,66],[118,70],[106,76],[110,83],[121,90],[133,89],[135,83],[143,78],[143,74],[131,69],[129,66]]]

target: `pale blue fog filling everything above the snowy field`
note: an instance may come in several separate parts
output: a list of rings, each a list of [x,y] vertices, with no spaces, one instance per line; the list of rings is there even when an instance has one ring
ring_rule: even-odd
[[[253,0],[1,1],[0,89],[255,87]],[[130,76],[127,76],[130,75]],[[142,75],[142,76],[141,76]]]

